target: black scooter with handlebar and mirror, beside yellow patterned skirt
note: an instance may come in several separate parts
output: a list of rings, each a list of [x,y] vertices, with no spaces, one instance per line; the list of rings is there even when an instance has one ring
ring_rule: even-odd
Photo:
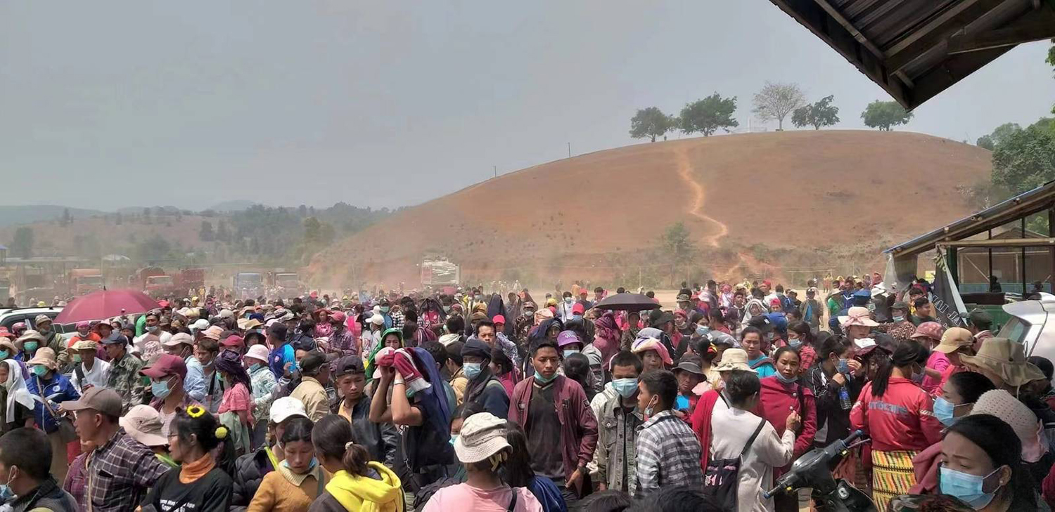
[[[865,439],[864,432],[855,431],[849,437],[837,440],[825,448],[814,448],[799,457],[791,465],[791,470],[776,479],[773,489],[764,494],[768,499],[780,493],[793,493],[802,488],[812,489],[817,510],[820,512],[875,512],[876,504],[871,498],[846,483],[831,476],[839,462],[849,452]]]

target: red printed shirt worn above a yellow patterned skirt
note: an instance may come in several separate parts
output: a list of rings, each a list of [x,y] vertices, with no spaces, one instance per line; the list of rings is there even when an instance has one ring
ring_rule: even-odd
[[[864,385],[850,409],[850,428],[871,437],[871,449],[884,452],[921,451],[941,440],[941,422],[934,417],[934,401],[916,382],[890,377],[882,397]]]

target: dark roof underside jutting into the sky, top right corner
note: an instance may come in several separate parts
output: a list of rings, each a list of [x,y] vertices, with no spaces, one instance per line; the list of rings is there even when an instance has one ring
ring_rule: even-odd
[[[1055,37],[1055,0],[770,0],[914,109],[1015,45]]]

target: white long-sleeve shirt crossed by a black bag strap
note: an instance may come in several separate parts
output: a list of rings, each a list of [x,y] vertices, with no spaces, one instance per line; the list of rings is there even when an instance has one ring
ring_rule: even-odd
[[[715,407],[711,416],[711,459],[740,456],[761,420],[747,411]],[[766,421],[740,465],[740,485],[736,488],[738,512],[772,512],[773,500],[764,499],[762,493],[773,487],[773,468],[790,462],[793,449],[794,431],[787,429],[781,437]]]

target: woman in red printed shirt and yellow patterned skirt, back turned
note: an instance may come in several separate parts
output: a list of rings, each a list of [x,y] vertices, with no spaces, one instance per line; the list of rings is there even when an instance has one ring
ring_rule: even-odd
[[[941,438],[934,402],[916,385],[929,355],[920,343],[902,341],[880,360],[876,378],[850,410],[850,427],[871,437],[872,499],[880,510],[916,484],[913,457]]]

